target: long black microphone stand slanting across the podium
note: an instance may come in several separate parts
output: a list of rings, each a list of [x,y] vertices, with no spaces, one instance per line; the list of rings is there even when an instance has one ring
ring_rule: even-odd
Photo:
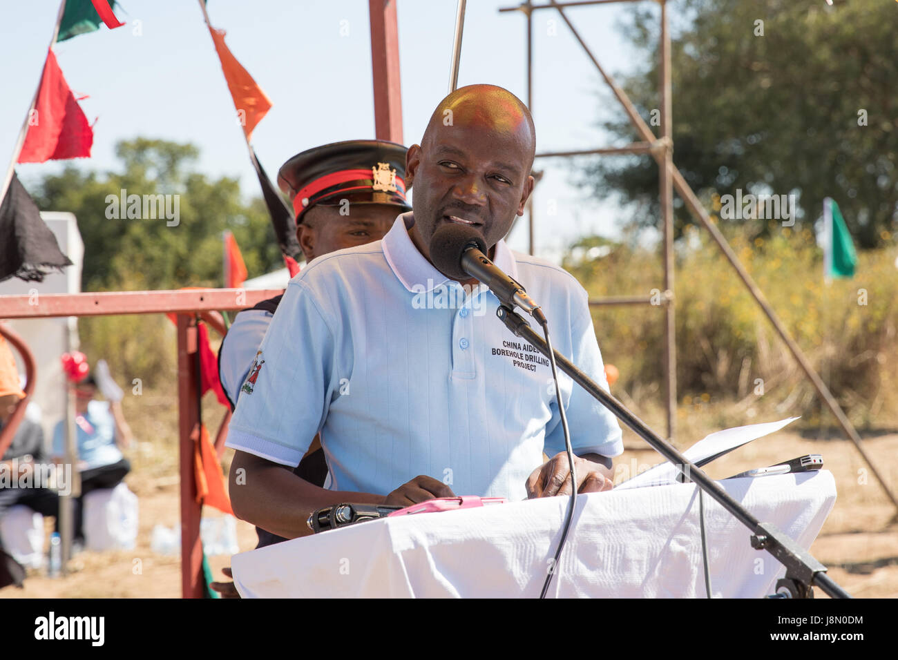
[[[510,309],[506,304],[500,304],[496,311],[499,319],[506,324],[506,328],[530,342],[542,355],[549,356],[549,348],[544,339],[533,330],[527,321]],[[577,369],[568,358],[558,351],[553,351],[559,369],[568,374],[575,383],[579,384],[586,392],[589,392],[602,405],[611,410],[614,415],[631,428],[636,435],[650,444],[657,453],[660,453],[668,461],[674,463],[677,470],[681,471],[688,480],[694,481],[699,488],[718,501],[727,511],[735,516],[736,520],[748,527],[752,532],[751,542],[755,550],[767,550],[780,564],[786,567],[786,577],[777,582],[776,589],[779,597],[813,598],[814,592],[811,585],[819,586],[825,594],[832,598],[850,598],[850,594],[837,585],[826,575],[826,567],[814,559],[810,552],[799,546],[787,534],[780,531],[776,525],[762,523],[747,509],[735,501],[733,497],[711,480],[707,474],[693,464],[689,459],[678,452],[673,444],[658,436],[652,429],[629,411],[621,401],[605,392],[592,379]]]

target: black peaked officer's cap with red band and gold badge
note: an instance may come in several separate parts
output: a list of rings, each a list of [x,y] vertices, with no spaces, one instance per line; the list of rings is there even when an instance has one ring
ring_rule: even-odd
[[[296,154],[277,172],[277,184],[293,202],[296,224],[315,206],[394,204],[406,201],[407,149],[386,140],[347,140]]]

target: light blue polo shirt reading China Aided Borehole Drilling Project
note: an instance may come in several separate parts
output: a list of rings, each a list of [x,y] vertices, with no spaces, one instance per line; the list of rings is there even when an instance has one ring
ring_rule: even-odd
[[[497,319],[486,286],[466,295],[418,252],[412,224],[403,214],[382,241],[290,280],[226,445],[295,466],[321,432],[333,490],[386,495],[425,474],[456,495],[524,499],[542,453],[564,451],[549,362]],[[607,389],[577,280],[503,241],[494,261],[542,304],[554,347]],[[612,413],[559,378],[575,453],[622,453]]]

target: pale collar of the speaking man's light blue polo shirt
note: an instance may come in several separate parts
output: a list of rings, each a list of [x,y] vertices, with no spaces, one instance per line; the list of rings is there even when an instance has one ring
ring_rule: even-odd
[[[431,291],[448,282],[450,278],[426,260],[415,247],[415,243],[411,242],[409,229],[414,224],[415,216],[411,211],[396,218],[396,222],[393,223],[392,228],[381,242],[383,256],[402,286],[405,286],[410,292],[418,293],[422,290],[422,286],[424,291]],[[507,275],[516,279],[515,255],[508,249],[504,240],[496,243],[495,257],[493,263]]]

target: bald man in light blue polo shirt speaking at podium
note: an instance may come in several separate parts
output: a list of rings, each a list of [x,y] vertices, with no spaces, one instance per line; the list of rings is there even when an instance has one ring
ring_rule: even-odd
[[[341,502],[569,493],[548,360],[496,318],[489,289],[446,277],[429,251],[444,224],[476,229],[490,259],[542,305],[555,348],[607,389],[583,287],[502,240],[533,190],[535,145],[514,94],[456,90],[409,148],[412,211],[382,241],[313,260],[290,281],[230,424],[236,515],[295,538],[311,533],[313,510]],[[389,188],[384,170],[374,174]],[[578,492],[611,488],[617,419],[559,379]],[[318,433],[329,488],[292,471]]]

